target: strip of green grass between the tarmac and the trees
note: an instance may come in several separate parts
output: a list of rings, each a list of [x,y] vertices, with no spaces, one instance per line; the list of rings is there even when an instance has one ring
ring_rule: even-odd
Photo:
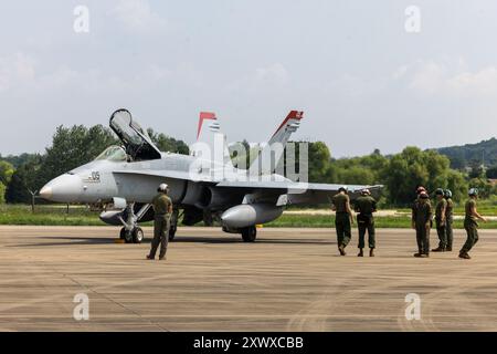
[[[495,207],[489,207],[488,210],[485,208],[478,210],[486,216],[496,215]],[[404,211],[409,212],[409,210]],[[334,222],[335,218],[330,215],[284,214],[275,221],[266,223],[265,227],[332,228]],[[463,220],[455,220],[454,223],[455,228],[463,228]],[[0,225],[105,226],[98,219],[98,212],[91,211],[86,207],[72,206],[67,211],[65,206],[36,206],[35,211],[32,212],[30,206],[21,205],[1,205]],[[202,225],[202,222],[199,223],[199,226]],[[377,217],[376,226],[378,228],[410,228],[411,219],[409,214]],[[497,220],[480,222],[480,228],[497,229]]]

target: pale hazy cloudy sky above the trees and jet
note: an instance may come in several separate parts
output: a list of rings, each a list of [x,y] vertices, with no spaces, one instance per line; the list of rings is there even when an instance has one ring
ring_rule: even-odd
[[[0,154],[43,152],[56,126],[107,125],[120,107],[189,144],[200,111],[229,142],[263,142],[290,110],[305,112],[293,138],[334,157],[477,143],[497,136],[495,13],[494,0],[2,1]]]

